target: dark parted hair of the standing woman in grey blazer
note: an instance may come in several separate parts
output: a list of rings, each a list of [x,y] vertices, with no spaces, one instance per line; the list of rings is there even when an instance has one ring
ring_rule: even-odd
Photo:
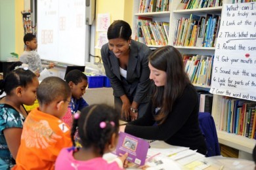
[[[110,27],[108,27],[108,39],[124,39],[128,41],[131,38],[131,27],[123,20],[114,21]]]

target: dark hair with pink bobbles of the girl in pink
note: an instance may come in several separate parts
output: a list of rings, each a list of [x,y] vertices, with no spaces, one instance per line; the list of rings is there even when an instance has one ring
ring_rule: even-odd
[[[100,127],[101,122],[105,122],[106,127]],[[90,146],[100,148],[100,154],[104,154],[104,148],[110,142],[112,134],[118,135],[119,114],[116,109],[105,104],[90,105],[82,109],[79,118],[74,119],[72,126],[71,139],[74,146],[77,127],[81,145],[84,148]]]

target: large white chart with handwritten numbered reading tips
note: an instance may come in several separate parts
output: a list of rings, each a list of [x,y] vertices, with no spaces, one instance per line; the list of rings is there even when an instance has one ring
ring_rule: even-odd
[[[224,4],[211,93],[256,101],[256,3]]]

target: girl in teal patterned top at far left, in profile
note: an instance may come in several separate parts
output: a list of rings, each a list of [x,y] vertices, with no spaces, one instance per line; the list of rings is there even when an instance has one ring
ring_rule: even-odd
[[[33,105],[38,79],[28,68],[11,71],[0,80],[0,168],[10,169],[15,164],[20,146],[22,125],[27,116],[23,105]]]

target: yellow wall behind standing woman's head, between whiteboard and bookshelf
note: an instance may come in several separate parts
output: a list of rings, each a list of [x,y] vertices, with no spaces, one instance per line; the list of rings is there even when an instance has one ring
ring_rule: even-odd
[[[97,14],[110,13],[110,24],[114,20],[125,20],[133,28],[133,0],[97,0],[96,1],[96,20]],[[95,33],[95,45],[98,33]],[[95,46],[94,45],[94,46]],[[95,56],[100,56],[100,49],[95,48]]]

